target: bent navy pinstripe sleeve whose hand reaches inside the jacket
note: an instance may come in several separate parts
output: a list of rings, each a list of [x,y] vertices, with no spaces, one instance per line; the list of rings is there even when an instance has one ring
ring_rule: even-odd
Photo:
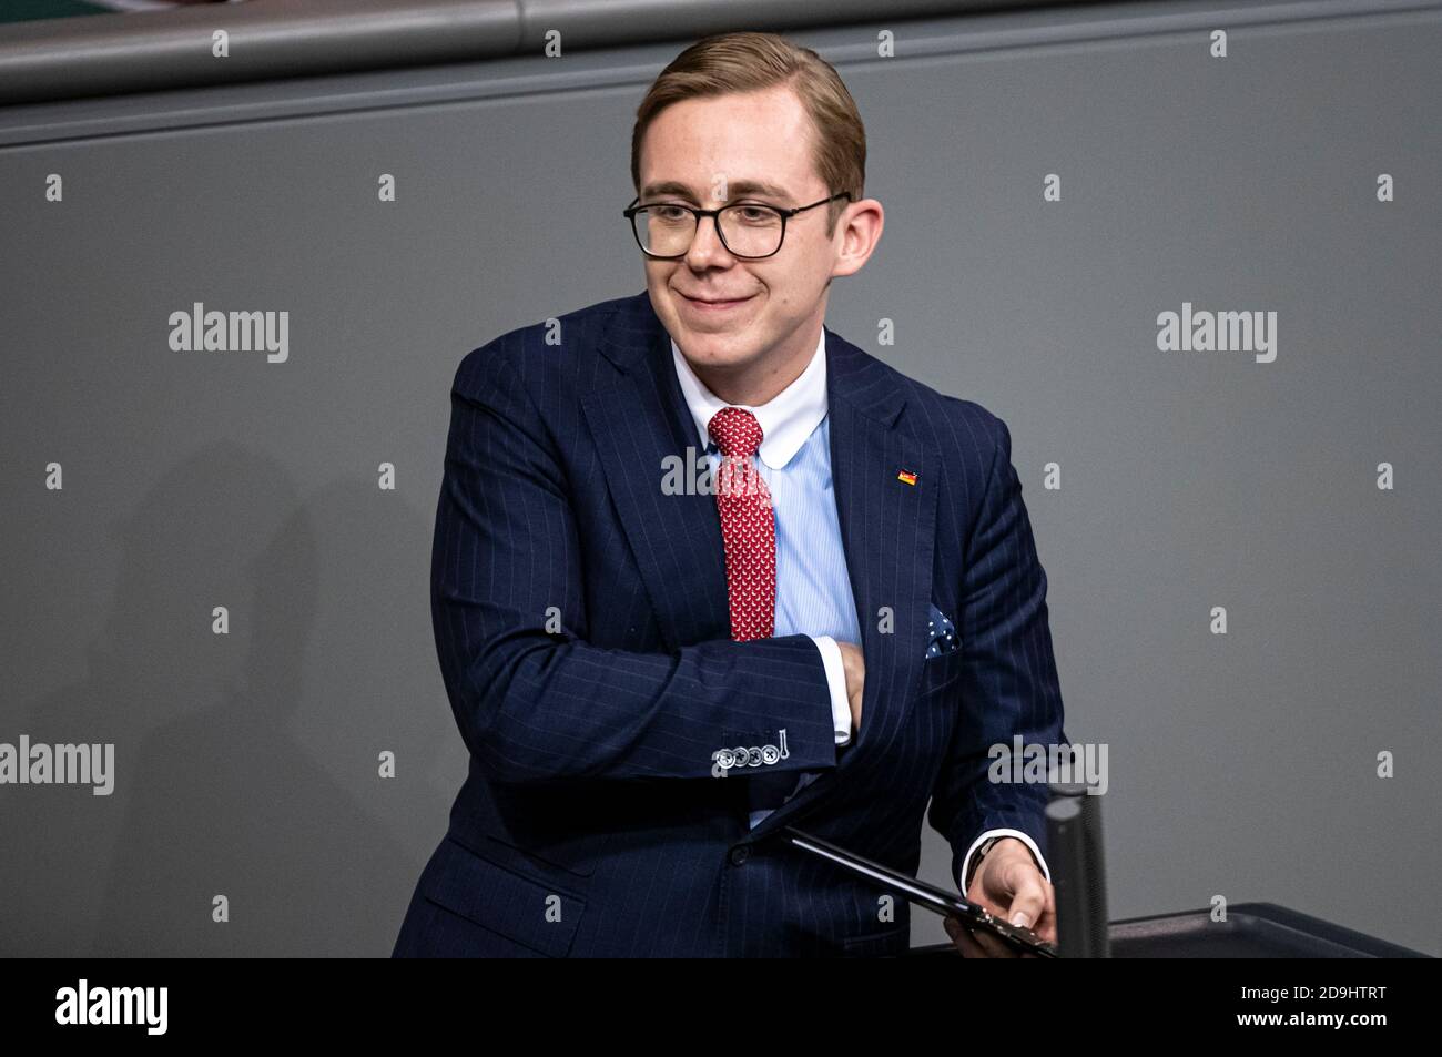
[[[720,777],[717,750],[774,743],[766,730],[780,728],[789,757],[767,771],[833,767],[831,691],[810,636],[718,639],[678,653],[587,642],[581,526],[564,467],[493,346],[456,372],[431,549],[441,675],[487,777]],[[587,529],[620,545],[614,525]]]

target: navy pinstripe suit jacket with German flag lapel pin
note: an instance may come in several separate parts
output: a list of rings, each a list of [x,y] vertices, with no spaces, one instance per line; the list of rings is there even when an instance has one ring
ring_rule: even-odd
[[[559,323],[559,343],[522,327],[456,372],[431,604],[470,771],[394,955],[894,955],[908,906],[881,914],[780,826],[908,872],[923,821],[953,875],[995,826],[1045,854],[1044,787],[986,779],[991,746],[1064,740],[1005,424],[826,330],[867,662],[838,750],[816,645],[733,642],[715,497],[663,493],[663,459],[702,444],[649,294]],[[962,647],[926,658],[932,603]],[[748,831],[746,779],[714,777],[712,753],[780,728],[767,770],[822,774]]]

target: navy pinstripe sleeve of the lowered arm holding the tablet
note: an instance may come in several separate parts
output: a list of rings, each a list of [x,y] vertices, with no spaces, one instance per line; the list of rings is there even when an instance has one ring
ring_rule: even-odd
[[[1045,784],[992,782],[992,746],[1064,744],[1061,691],[1047,626],[1047,574],[1037,558],[1011,433],[991,414],[995,451],[968,535],[962,609],[955,622],[966,650],[957,718],[932,790],[929,821],[952,845],[960,877],[972,842],[988,829],[1017,829],[1045,854]],[[1009,767],[1008,767],[1009,773]]]

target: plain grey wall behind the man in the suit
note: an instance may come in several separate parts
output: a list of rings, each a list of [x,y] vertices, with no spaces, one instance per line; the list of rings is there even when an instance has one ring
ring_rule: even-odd
[[[828,324],[1011,427],[1112,916],[1221,894],[1442,953],[1442,13],[1214,7],[792,33],[887,208]],[[451,375],[643,288],[629,133],[676,50],[0,111],[0,741],[118,771],[0,786],[3,953],[389,953],[466,767],[427,604]],[[288,310],[290,359],[172,352],[193,301]],[[1275,362],[1159,352],[1184,301],[1276,311]]]

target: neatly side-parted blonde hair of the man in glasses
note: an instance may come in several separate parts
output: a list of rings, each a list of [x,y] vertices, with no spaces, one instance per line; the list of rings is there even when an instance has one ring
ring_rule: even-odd
[[[656,115],[673,102],[784,85],[796,92],[815,128],[812,162],[831,195],[864,198],[867,130],[857,101],[835,68],[810,48],[776,33],[721,33],[691,45],[652,82],[636,108],[632,130],[632,185],[640,192],[640,144]],[[764,176],[758,179],[766,179]],[[826,206],[826,236],[846,208],[844,199]]]

